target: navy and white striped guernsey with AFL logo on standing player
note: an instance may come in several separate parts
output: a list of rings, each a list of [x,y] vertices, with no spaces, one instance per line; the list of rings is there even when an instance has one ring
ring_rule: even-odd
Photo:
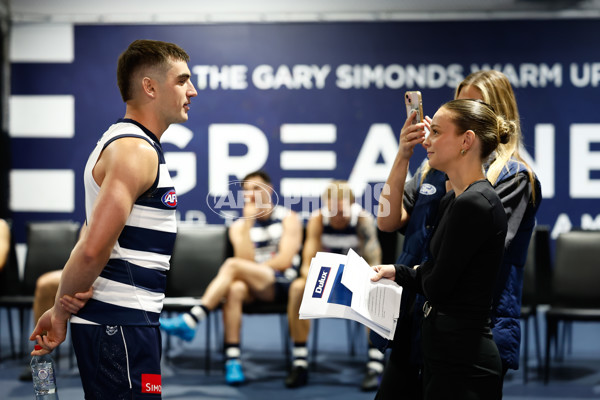
[[[166,271],[177,234],[177,195],[160,142],[138,122],[117,121],[90,155],[84,172],[86,219],[91,222],[92,207],[100,191],[92,170],[102,150],[124,137],[138,137],[154,147],[159,159],[156,180],[136,200],[108,264],[94,282],[92,299],[71,318],[72,323],[158,326]]]

